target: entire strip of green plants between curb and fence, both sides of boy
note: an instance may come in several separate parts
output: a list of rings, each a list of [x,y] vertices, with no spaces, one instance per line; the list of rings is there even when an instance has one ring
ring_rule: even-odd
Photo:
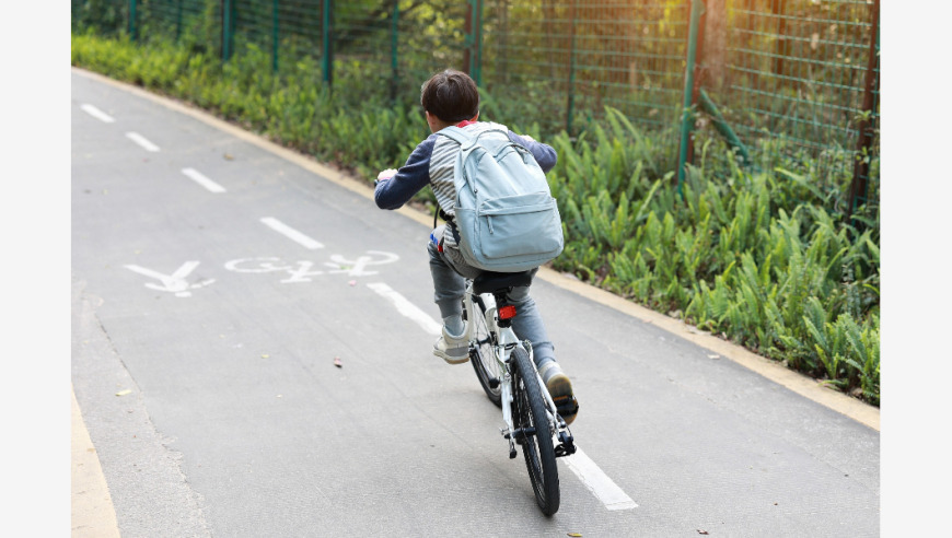
[[[72,63],[194,103],[368,180],[429,134],[415,100],[391,101],[380,73],[359,60],[335,66],[330,90],[309,56],[282,57],[274,72],[254,44],[239,40],[240,54],[223,65],[201,43],[74,33]],[[509,104],[518,100],[484,95],[484,119],[518,130],[515,115],[527,113]],[[556,269],[879,405],[879,213],[847,214],[848,177],[791,160],[782,140],[750,148],[750,168],[706,142],[682,197],[670,168],[677,148],[659,143],[675,140],[673,126],[648,136],[606,108],[573,137],[535,117],[523,132],[544,136],[559,155],[548,175],[566,235]]]

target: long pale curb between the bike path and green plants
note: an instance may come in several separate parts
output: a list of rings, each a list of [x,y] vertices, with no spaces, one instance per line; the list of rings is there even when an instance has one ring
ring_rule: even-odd
[[[148,98],[154,103],[161,104],[170,109],[191,116],[199,121],[202,121],[211,127],[228,132],[229,134],[239,138],[243,141],[252,143],[263,150],[266,150],[275,155],[290,161],[305,169],[313,172],[323,178],[339,185],[348,190],[357,192],[365,198],[373,199],[373,188],[364,182],[358,180],[336,168],[322,164],[315,159],[299,153],[294,150],[289,150],[275,142],[271,142],[258,134],[248,132],[233,124],[219,119],[209,113],[187,105],[170,97],[164,97],[151,93],[141,87],[119,82],[109,79],[98,73],[86,71],[84,69],[72,67],[72,72],[95,79],[97,81],[111,84],[115,87],[123,89],[138,96]],[[403,207],[396,210],[423,226],[432,225],[432,217],[427,217],[423,213]],[[665,316],[658,312],[651,311],[632,302],[629,302],[620,296],[617,296],[605,290],[587,284],[574,278],[567,277],[558,271],[543,267],[539,277],[546,282],[590,299],[604,306],[613,308],[617,312],[631,316],[645,323],[650,323],[657,327],[664,329],[672,335],[690,341],[701,348],[705,348],[713,353],[717,353],[728,360],[731,360],[752,372],[759,374],[774,383],[777,383],[804,398],[808,398],[816,404],[827,407],[836,412],[839,412],[859,423],[862,423],[875,431],[880,431],[880,409],[867,405],[856,398],[847,396],[843,393],[837,393],[833,389],[824,387],[820,382],[787,369],[782,364],[770,359],[757,355],[745,348],[722,340],[709,332],[701,331],[692,327],[684,321]]]

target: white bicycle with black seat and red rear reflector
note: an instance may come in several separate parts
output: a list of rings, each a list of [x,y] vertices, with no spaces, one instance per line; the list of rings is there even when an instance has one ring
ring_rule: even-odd
[[[522,446],[536,503],[548,516],[560,503],[556,458],[576,453],[559,410],[577,412],[578,402],[572,398],[556,405],[533,361],[532,342],[519,340],[512,330],[518,313],[506,295],[513,286],[532,283],[532,271],[484,272],[467,280],[463,318],[469,362],[486,396],[502,409],[506,425],[500,432],[509,442],[509,458],[515,458],[515,445]]]

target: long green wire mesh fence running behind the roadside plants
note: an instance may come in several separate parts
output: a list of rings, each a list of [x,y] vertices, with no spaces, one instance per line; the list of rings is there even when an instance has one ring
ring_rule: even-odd
[[[879,0],[72,0],[73,30],[190,39],[224,61],[256,47],[321,80],[416,102],[469,72],[520,125],[576,133],[604,107],[673,148],[763,141],[878,204]]]

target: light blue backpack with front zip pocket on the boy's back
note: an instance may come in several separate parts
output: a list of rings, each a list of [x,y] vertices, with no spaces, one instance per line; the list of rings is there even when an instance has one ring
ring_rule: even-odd
[[[556,199],[529,150],[498,124],[471,137],[439,131],[460,143],[453,172],[460,252],[473,267],[519,272],[561,254],[565,246]]]

